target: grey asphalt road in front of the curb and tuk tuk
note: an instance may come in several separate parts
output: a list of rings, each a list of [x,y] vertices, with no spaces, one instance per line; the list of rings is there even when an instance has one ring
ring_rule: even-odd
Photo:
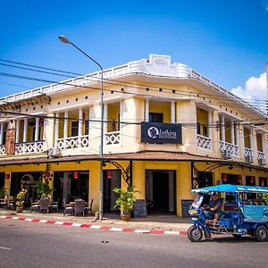
[[[0,267],[267,267],[268,242],[88,230],[0,220]]]

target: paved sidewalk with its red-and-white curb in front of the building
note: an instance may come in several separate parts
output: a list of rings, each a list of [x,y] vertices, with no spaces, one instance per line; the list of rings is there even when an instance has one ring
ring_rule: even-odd
[[[190,226],[190,223],[188,223],[190,218],[180,218],[175,215],[152,215],[147,216],[147,218],[131,218],[130,222],[121,221],[118,214],[105,214],[103,221],[96,221],[95,216],[74,217],[70,215],[63,216],[63,213],[38,214],[27,211],[18,214],[14,211],[0,210],[0,216],[1,219],[9,220],[154,234],[185,235]]]

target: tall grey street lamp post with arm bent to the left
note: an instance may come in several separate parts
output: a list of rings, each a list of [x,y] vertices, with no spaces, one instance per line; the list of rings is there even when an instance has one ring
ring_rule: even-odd
[[[100,105],[101,105],[101,136],[100,136],[100,147],[99,147],[99,158],[100,158],[100,194],[99,194],[99,219],[102,221],[104,218],[104,169],[103,169],[103,155],[104,155],[104,70],[100,63],[97,63],[92,57],[86,54],[78,46],[74,45],[68,38],[64,36],[59,36],[59,39],[65,44],[71,44],[76,49],[78,49],[82,54],[86,55],[93,63],[101,70],[101,95],[100,95]]]

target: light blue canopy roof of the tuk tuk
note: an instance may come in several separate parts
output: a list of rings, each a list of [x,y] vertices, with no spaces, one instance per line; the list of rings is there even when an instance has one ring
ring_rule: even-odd
[[[219,184],[219,185],[205,187],[205,188],[192,189],[191,192],[192,193],[200,193],[200,194],[211,194],[213,192],[268,193],[268,187]]]

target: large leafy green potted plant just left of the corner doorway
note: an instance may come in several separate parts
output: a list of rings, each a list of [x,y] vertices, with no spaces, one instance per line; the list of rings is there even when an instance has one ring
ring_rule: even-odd
[[[113,192],[119,194],[119,197],[115,200],[114,207],[120,207],[121,219],[125,222],[130,221],[130,214],[133,210],[133,206],[136,202],[135,187],[129,186],[126,190],[122,188],[114,188]]]

